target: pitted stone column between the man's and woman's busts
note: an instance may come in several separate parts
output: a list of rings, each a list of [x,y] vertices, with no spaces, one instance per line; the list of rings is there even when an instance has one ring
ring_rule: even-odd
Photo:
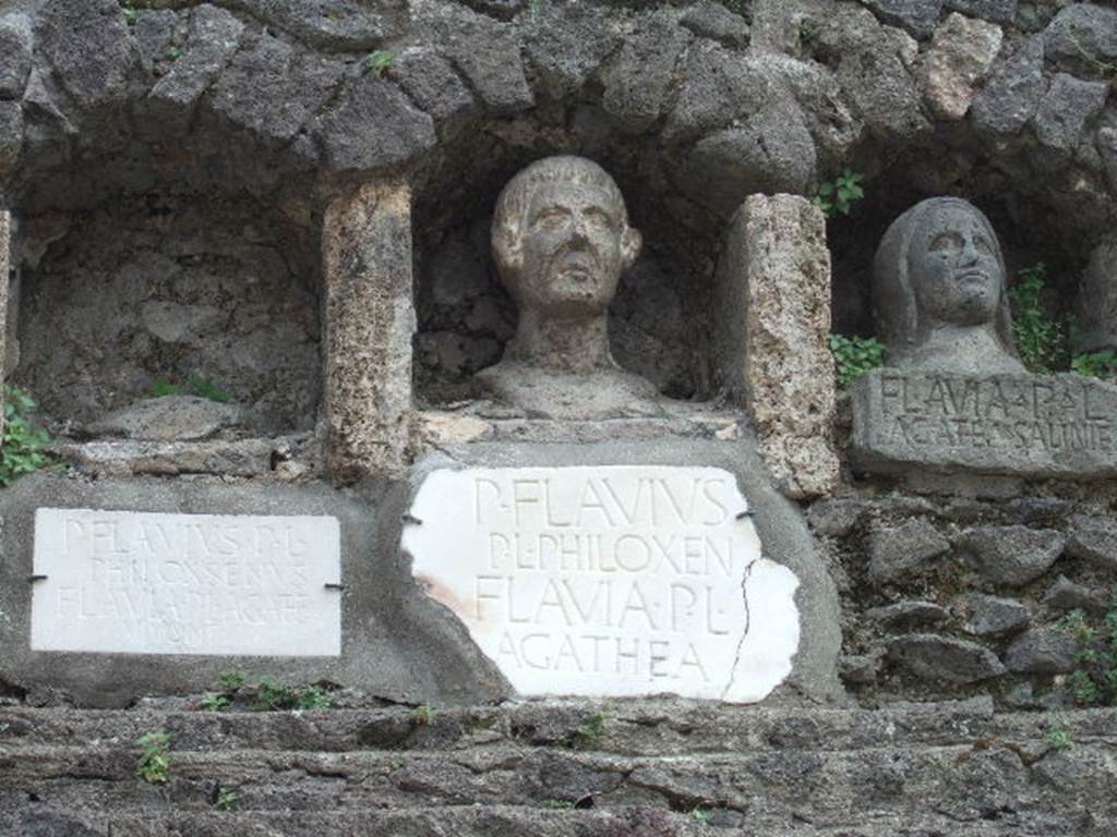
[[[831,443],[830,252],[825,220],[795,195],[752,195],[729,221],[715,300],[717,374],[745,406],[787,497],[838,483]]]

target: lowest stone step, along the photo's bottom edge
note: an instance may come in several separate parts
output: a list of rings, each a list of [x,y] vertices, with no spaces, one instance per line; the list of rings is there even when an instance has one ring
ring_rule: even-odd
[[[0,811],[0,829],[19,837],[1102,837],[1088,817],[1004,811],[958,821],[918,800],[900,814],[859,811],[841,820],[785,819],[763,810],[747,817],[720,810],[679,814],[646,806],[608,810],[544,810],[491,806],[401,810],[235,812],[61,809],[37,805]]]

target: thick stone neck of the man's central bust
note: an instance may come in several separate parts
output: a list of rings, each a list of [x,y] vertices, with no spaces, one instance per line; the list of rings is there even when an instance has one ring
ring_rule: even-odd
[[[608,315],[560,317],[538,310],[521,310],[516,336],[505,359],[556,372],[585,373],[613,368],[609,352]]]

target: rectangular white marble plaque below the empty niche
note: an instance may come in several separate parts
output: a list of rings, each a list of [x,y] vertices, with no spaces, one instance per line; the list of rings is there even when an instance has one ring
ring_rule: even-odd
[[[31,650],[341,654],[332,517],[35,513]]]

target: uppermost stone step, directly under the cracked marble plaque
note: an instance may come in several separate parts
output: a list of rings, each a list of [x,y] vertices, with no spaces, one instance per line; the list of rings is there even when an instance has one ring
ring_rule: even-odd
[[[983,737],[1042,741],[1054,724],[1068,725],[1076,740],[1105,738],[1117,730],[1117,709],[994,714],[986,699],[882,710],[720,706],[667,700],[540,701],[440,710],[424,719],[407,708],[216,713],[0,706],[0,745],[126,745],[163,730],[171,734],[175,750],[345,752],[504,743],[569,744],[619,756],[685,756],[774,747],[824,751],[967,744]]]

